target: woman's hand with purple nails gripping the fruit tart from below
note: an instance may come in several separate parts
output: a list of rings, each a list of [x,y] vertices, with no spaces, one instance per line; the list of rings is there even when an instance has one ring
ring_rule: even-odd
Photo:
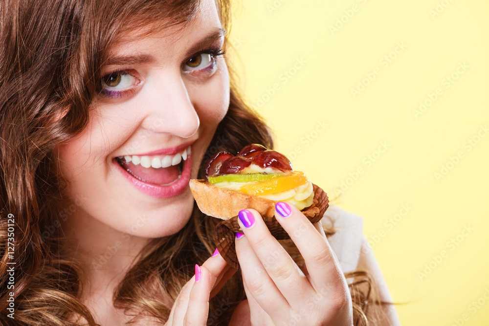
[[[231,325],[249,325],[238,318],[249,311],[251,325],[351,326],[348,285],[320,223],[312,225],[293,205],[275,207],[305,264],[302,269],[295,264],[257,211],[241,211],[244,236],[237,235],[236,253],[248,300],[238,306]]]

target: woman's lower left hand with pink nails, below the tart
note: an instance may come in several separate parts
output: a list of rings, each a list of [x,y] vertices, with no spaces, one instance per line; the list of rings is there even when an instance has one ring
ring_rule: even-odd
[[[236,272],[216,252],[202,266],[196,265],[195,276],[188,281],[173,304],[165,325],[206,325],[209,299]]]

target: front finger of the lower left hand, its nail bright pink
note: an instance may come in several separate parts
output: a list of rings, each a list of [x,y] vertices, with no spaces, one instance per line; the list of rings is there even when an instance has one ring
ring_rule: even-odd
[[[211,274],[209,270],[199,265],[195,265],[194,284],[190,290],[188,306],[183,318],[183,325],[206,325],[209,313],[209,293],[211,290]],[[174,324],[180,324],[179,320],[174,320]]]

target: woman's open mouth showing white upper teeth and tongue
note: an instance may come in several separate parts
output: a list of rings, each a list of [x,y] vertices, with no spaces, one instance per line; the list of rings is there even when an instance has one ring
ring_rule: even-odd
[[[156,186],[171,186],[182,176],[184,164],[190,157],[190,146],[171,155],[127,155],[115,161],[134,178]]]

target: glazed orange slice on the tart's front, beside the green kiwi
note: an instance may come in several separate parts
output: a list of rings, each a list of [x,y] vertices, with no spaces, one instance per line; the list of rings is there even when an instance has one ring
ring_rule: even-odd
[[[270,180],[248,183],[240,188],[246,195],[269,195],[280,193],[288,189],[295,188],[308,182],[304,173],[294,171],[290,174],[279,176]]]

